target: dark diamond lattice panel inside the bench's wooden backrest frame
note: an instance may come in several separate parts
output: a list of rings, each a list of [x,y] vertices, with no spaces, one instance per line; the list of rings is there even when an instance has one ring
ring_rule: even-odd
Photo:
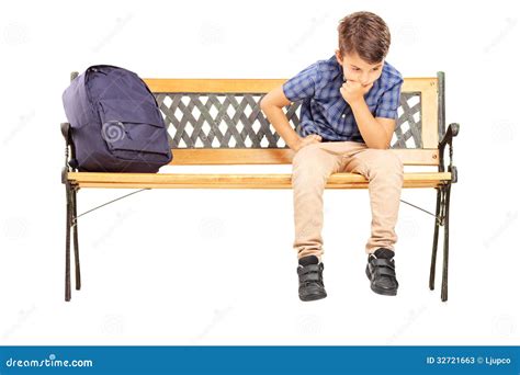
[[[171,148],[285,148],[260,110],[264,93],[156,93]],[[298,130],[301,102],[284,109]],[[393,148],[421,148],[421,95],[404,92]]]

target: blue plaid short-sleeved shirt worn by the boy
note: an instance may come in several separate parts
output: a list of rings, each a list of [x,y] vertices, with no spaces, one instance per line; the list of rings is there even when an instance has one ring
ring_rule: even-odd
[[[318,134],[324,140],[364,141],[349,103],[341,96],[343,70],[332,56],[318,60],[283,83],[285,96],[302,100],[301,136]],[[384,63],[381,77],[364,95],[374,117],[397,118],[403,77]]]

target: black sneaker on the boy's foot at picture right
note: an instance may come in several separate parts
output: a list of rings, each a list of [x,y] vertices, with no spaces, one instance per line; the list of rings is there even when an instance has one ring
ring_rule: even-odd
[[[366,264],[366,276],[370,280],[370,288],[385,296],[397,295],[399,283],[395,275],[394,251],[380,248],[369,255]]]

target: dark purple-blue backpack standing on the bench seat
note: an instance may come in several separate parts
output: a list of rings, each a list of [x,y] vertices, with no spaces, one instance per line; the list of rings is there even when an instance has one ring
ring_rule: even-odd
[[[157,101],[134,72],[97,65],[65,90],[79,171],[151,172],[172,159]]]

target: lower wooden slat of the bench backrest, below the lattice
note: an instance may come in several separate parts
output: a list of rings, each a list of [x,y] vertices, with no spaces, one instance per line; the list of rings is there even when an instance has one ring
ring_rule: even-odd
[[[171,166],[211,164],[290,164],[294,152],[291,149],[240,149],[240,148],[174,148]],[[439,166],[438,149],[392,149],[405,166]]]

